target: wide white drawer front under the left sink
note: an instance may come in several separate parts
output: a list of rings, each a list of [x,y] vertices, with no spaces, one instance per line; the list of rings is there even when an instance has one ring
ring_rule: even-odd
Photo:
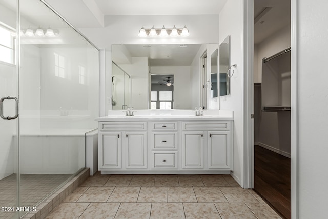
[[[147,130],[146,122],[107,122],[100,123],[100,131],[143,131]]]

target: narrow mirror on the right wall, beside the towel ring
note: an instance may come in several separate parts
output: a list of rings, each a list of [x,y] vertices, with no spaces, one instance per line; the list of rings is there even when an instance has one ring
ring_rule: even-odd
[[[230,66],[230,36],[219,46],[220,96],[230,94],[230,78],[227,75]]]

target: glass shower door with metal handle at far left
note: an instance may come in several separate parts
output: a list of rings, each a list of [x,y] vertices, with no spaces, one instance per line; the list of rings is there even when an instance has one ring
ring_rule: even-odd
[[[19,206],[18,118],[7,119],[8,116],[15,117],[16,101],[11,98],[18,97],[16,8],[16,1],[0,0],[0,218],[18,218],[16,208]]]

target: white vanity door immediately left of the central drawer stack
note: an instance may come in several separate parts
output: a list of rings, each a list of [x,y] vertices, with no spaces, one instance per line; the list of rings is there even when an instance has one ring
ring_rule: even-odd
[[[147,168],[147,132],[122,132],[127,169]]]

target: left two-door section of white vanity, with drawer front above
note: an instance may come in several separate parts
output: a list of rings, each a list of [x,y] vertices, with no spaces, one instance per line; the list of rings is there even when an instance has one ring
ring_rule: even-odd
[[[99,122],[98,169],[145,169],[147,122]]]

